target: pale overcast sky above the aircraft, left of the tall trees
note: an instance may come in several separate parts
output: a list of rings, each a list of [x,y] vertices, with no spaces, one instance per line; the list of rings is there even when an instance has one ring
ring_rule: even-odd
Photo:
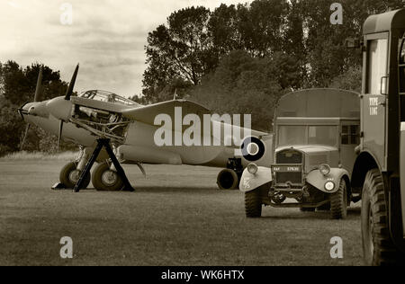
[[[148,31],[175,10],[246,0],[0,0],[0,62],[41,62],[69,81],[77,63],[76,91],[141,93]],[[62,4],[73,7],[63,25]]]

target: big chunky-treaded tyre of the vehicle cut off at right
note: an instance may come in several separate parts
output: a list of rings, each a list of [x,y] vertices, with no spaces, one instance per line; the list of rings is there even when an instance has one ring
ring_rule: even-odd
[[[362,241],[365,265],[403,264],[403,255],[396,250],[388,227],[383,177],[378,169],[365,176],[362,195]]]

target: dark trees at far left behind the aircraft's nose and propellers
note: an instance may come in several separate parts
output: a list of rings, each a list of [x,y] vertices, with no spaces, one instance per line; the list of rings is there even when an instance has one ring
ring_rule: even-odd
[[[14,61],[0,64],[0,155],[20,149],[26,123],[17,112],[25,102],[34,100],[39,64],[20,67]],[[40,101],[66,93],[67,83],[60,80],[59,72],[43,67]],[[56,151],[58,138],[44,130],[31,126],[24,150]],[[71,146],[65,145],[67,148]]]

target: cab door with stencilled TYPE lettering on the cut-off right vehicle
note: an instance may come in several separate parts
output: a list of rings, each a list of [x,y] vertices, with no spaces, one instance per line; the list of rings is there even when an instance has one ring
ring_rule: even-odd
[[[386,169],[386,105],[388,103],[389,33],[371,34],[365,37],[365,69],[363,78],[362,144],[374,153]]]

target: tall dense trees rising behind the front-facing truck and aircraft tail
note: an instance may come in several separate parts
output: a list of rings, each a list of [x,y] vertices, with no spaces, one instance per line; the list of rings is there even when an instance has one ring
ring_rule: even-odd
[[[401,0],[342,0],[343,24],[330,22],[334,0],[255,0],[172,13],[148,34],[143,102],[173,93],[220,113],[252,113],[271,130],[275,102],[302,88],[359,91],[362,56],[347,49],[365,19],[403,6]]]

